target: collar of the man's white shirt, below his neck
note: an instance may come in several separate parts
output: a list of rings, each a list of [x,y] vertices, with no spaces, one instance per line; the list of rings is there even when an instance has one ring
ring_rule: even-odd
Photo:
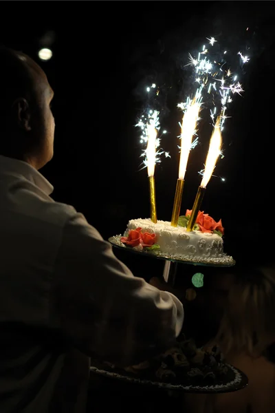
[[[0,155],[0,173],[23,176],[47,195],[54,191],[52,184],[39,171],[36,171],[32,165],[22,160]]]

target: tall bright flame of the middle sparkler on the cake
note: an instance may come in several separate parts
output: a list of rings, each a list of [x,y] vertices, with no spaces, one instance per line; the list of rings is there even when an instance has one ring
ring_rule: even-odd
[[[192,101],[192,104],[188,106],[181,124],[181,155],[179,160],[179,179],[183,180],[190,149],[192,146],[192,137],[195,134],[197,118],[199,116],[199,103]]]

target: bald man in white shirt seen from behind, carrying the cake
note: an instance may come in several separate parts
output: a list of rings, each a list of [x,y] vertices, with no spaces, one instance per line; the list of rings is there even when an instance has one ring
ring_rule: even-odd
[[[146,359],[184,312],[50,198],[38,170],[53,156],[53,91],[25,54],[2,48],[0,61],[0,412],[81,413],[89,356]]]

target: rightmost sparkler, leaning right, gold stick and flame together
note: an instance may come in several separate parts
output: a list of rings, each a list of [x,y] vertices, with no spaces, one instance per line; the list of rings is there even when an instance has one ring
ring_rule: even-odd
[[[206,168],[203,172],[203,178],[201,180],[201,185],[197,191],[195,202],[192,207],[192,213],[190,220],[188,221],[187,231],[193,231],[197,215],[199,213],[199,208],[201,207],[201,202],[203,200],[203,195],[206,192],[206,185],[208,184],[214,167],[216,165],[217,159],[221,154],[221,130],[220,130],[220,116],[217,118],[216,124],[214,125],[214,130],[210,139],[208,155],[206,158]]]

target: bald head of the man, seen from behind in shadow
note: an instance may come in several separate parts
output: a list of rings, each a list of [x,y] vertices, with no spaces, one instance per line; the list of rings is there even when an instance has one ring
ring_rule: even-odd
[[[37,63],[22,52],[0,48],[0,154],[28,162],[43,158],[30,162],[37,168],[52,158],[52,95]]]

